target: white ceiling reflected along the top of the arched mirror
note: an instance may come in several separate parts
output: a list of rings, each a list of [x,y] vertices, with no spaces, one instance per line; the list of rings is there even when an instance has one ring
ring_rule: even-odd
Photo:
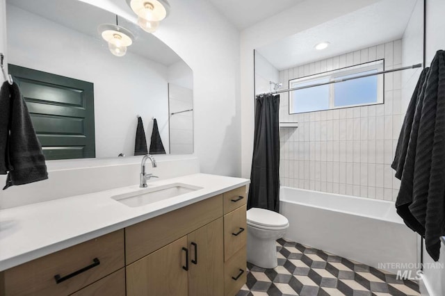
[[[8,0],[7,3],[97,40],[102,40],[97,32],[99,24],[115,24],[116,22],[113,13],[77,0]],[[128,52],[165,66],[170,66],[181,60],[175,51],[154,35],[143,31],[136,24],[122,17],[118,22],[120,26],[127,28],[136,37],[133,44],[128,47]],[[105,41],[104,44],[106,44]]]

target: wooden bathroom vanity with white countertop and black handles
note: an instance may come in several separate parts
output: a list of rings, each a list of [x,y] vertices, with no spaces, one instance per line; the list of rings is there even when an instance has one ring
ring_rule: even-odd
[[[248,182],[193,174],[2,210],[0,295],[235,295]],[[117,198],[171,184],[196,189],[140,206]]]

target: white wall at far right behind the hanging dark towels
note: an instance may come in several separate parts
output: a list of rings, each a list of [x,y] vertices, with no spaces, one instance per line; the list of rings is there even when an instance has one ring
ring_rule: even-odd
[[[445,49],[445,1],[426,0],[426,65],[429,66],[437,50]],[[423,250],[423,262],[432,263],[432,258]],[[439,263],[445,265],[445,245],[442,243]],[[424,268],[423,284],[431,296],[445,295],[445,270]]]

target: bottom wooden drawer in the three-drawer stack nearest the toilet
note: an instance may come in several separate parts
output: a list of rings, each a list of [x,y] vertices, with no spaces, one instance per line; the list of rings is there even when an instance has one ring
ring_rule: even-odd
[[[224,295],[234,296],[247,280],[245,246],[224,263]]]

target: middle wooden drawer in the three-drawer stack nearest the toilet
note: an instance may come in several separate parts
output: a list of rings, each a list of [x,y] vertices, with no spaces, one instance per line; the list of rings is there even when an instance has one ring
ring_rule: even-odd
[[[224,215],[224,261],[229,260],[247,240],[246,208],[241,208]]]

